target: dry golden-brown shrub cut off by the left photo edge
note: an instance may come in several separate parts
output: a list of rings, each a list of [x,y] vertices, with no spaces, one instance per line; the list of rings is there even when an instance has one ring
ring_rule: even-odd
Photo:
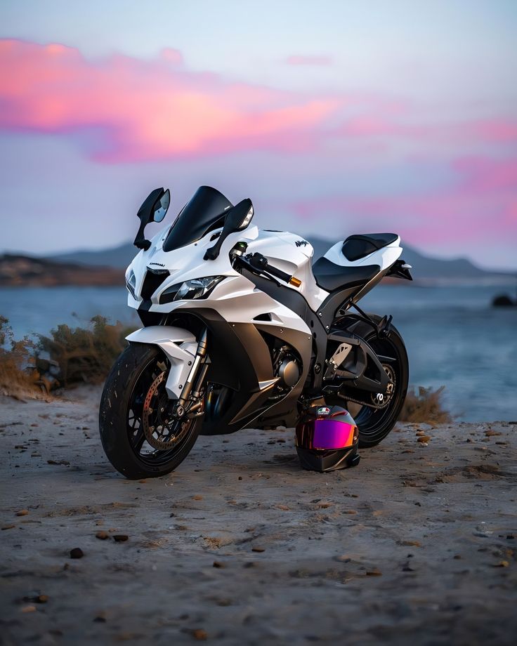
[[[22,399],[41,397],[32,371],[27,370],[34,352],[34,343],[25,337],[15,341],[8,319],[0,316],[0,394]]]

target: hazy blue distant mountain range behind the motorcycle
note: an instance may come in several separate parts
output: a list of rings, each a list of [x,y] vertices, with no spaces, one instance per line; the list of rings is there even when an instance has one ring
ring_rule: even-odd
[[[308,241],[314,247],[315,258],[320,258],[334,244],[334,242],[322,238],[309,236]],[[100,249],[96,251],[70,251],[52,256],[50,259],[60,263],[77,263],[79,265],[114,267],[125,269],[136,255],[137,249],[127,242],[112,249]],[[509,279],[517,272],[487,271],[481,269],[466,260],[466,258],[455,258],[443,260],[442,258],[431,258],[412,249],[404,244],[404,260],[412,265],[412,274],[415,279],[476,279],[495,278],[497,276]]]

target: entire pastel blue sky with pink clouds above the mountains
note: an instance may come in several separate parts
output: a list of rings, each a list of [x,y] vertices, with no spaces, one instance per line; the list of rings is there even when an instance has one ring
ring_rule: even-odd
[[[514,0],[4,1],[0,251],[119,244],[209,184],[516,269],[516,37]]]

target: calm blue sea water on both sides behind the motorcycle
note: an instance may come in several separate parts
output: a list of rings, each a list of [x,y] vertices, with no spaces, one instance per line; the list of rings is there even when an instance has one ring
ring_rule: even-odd
[[[492,308],[508,286],[377,286],[360,305],[393,315],[410,357],[410,383],[445,385],[444,403],[464,421],[517,420],[517,308]],[[0,289],[0,315],[15,336],[84,325],[102,314],[138,325],[121,287]]]

